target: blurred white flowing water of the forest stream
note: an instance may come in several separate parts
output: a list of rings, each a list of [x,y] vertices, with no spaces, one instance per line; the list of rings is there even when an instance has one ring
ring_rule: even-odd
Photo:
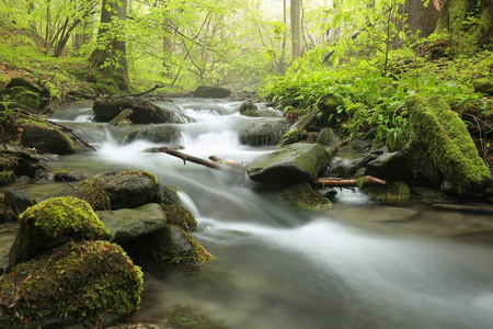
[[[238,129],[257,118],[241,116],[238,102],[176,99],[161,105],[193,118],[177,125],[184,152],[251,161],[273,151],[239,144]],[[146,140],[122,144],[125,128],[93,123],[91,115],[90,109],[55,115],[98,151],[64,156],[48,168],[87,175],[152,171],[181,191],[198,222],[195,237],[217,258],[193,274],[146,273],[137,320],[156,321],[180,304],[230,328],[493,328],[492,247],[405,230],[392,219],[490,218],[380,207],[357,190],[340,191],[332,211],[298,212],[265,198],[264,188],[248,178],[147,152],[160,145]],[[58,188],[26,186],[38,197]]]

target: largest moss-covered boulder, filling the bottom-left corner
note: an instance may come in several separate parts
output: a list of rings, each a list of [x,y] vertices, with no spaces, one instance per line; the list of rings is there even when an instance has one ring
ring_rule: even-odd
[[[1,328],[105,328],[138,310],[142,273],[108,241],[68,242],[0,276]]]

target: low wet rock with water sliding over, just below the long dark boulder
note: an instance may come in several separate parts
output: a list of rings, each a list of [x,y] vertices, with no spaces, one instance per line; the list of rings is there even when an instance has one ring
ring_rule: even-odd
[[[158,124],[148,127],[130,129],[125,134],[124,141],[146,139],[152,143],[180,145],[181,129],[174,125]]]

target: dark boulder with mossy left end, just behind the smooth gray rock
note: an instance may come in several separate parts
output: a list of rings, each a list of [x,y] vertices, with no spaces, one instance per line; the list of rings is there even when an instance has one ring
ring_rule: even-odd
[[[67,189],[64,195],[85,200],[94,211],[135,208],[161,203],[158,178],[149,171],[110,171]]]

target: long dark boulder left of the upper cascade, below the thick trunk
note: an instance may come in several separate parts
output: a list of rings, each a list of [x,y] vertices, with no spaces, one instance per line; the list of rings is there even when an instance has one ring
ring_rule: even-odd
[[[148,101],[134,98],[102,99],[94,102],[94,120],[111,122],[124,110],[131,110],[127,117],[135,124],[182,123],[174,112],[159,107]]]

